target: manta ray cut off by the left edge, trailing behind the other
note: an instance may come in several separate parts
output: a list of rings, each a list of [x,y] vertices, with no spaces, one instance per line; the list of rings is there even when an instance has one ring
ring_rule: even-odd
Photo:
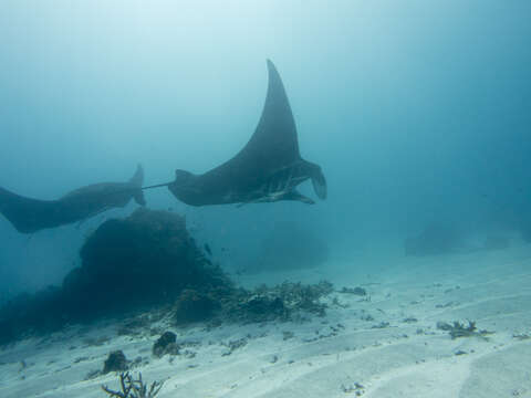
[[[55,228],[124,207],[132,198],[144,206],[144,169],[138,165],[127,182],[101,182],[73,190],[56,200],[39,200],[0,188],[0,213],[22,233]]]

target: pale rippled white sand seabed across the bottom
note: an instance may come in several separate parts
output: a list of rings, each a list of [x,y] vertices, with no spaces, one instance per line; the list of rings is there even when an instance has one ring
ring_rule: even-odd
[[[356,271],[366,265],[371,274]],[[371,301],[334,293],[324,318],[301,324],[165,327],[177,333],[178,343],[195,343],[173,360],[152,357],[157,336],[117,336],[112,322],[72,327],[0,350],[0,397],[106,397],[100,386],[117,389],[116,374],[84,378],[102,369],[114,349],[128,359],[142,356],[146,364],[133,371],[140,370],[145,380],[166,379],[159,398],[531,397],[531,338],[513,336],[531,336],[530,245],[374,265],[357,259],[289,277],[327,279],[337,289],[362,285]],[[417,322],[405,322],[412,317]],[[466,320],[496,333],[488,341],[451,339],[436,328],[438,321]],[[382,323],[388,326],[373,328]],[[284,339],[283,332],[293,337]],[[101,346],[86,342],[101,336],[111,339]],[[246,336],[247,345],[231,352],[228,343]]]

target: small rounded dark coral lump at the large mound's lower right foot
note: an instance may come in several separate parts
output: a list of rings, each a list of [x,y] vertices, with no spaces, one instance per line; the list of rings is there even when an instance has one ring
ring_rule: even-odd
[[[186,289],[175,304],[175,321],[177,324],[206,321],[217,307],[217,303],[207,294]]]

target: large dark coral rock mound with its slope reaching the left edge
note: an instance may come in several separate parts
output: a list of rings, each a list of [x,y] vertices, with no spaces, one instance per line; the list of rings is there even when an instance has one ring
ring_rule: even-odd
[[[66,323],[171,304],[185,289],[205,292],[215,301],[233,290],[220,266],[211,265],[196,245],[185,219],[167,211],[140,208],[125,219],[105,221],[87,238],[81,259],[82,265],[64,277],[61,287],[0,307],[0,345]],[[206,316],[209,304],[196,304]]]

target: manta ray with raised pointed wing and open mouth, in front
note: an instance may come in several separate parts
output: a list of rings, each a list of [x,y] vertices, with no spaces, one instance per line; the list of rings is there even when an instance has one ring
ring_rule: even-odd
[[[279,200],[314,203],[296,190],[308,179],[312,180],[317,197],[326,198],[321,167],[299,154],[290,103],[279,72],[269,60],[268,71],[266,104],[249,143],[233,158],[202,175],[176,170],[175,180],[165,185],[177,199],[191,206]]]

